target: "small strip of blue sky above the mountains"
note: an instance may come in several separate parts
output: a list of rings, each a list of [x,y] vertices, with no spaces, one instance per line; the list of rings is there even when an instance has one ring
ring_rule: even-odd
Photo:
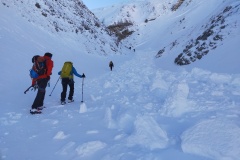
[[[110,6],[116,3],[126,2],[128,0],[82,0],[82,1],[89,9],[94,9]]]

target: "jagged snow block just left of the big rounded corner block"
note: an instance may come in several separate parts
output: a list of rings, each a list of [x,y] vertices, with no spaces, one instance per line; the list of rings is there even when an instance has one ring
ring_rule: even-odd
[[[159,127],[150,116],[138,116],[135,123],[135,133],[128,138],[128,145],[140,145],[145,148],[162,149],[168,145],[167,133]]]

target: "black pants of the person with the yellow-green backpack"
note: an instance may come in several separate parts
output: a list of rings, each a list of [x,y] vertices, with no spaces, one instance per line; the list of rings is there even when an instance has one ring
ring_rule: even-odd
[[[65,101],[66,99],[66,94],[67,94],[67,87],[69,86],[70,91],[68,94],[68,99],[72,100],[73,99],[73,94],[74,94],[74,81],[73,79],[69,78],[62,78],[62,93],[61,93],[61,101]]]

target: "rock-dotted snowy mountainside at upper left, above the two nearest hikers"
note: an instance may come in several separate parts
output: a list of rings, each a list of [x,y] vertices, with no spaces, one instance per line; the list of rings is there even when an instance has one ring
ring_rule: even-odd
[[[61,37],[62,41],[78,43],[79,48],[88,53],[107,55],[121,52],[116,38],[108,34],[105,26],[82,1],[2,0],[1,6],[17,10],[32,25]],[[90,43],[91,46],[88,45]]]

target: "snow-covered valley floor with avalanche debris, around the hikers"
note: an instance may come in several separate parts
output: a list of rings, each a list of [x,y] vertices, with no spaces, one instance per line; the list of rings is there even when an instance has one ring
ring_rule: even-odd
[[[136,52],[90,55],[71,40],[32,25],[11,8],[0,5],[0,15],[1,160],[239,159],[238,61],[215,68],[216,72],[208,56],[209,63],[199,61],[199,67],[176,67],[170,61],[166,66],[167,57],[159,63],[155,58],[159,47],[147,41],[158,40],[151,27],[142,29],[143,38],[133,42]],[[161,20],[170,15],[166,16]],[[154,24],[150,26],[157,28]],[[225,40],[226,46],[237,42],[239,35]],[[219,50],[227,52],[228,47]],[[41,115],[30,115],[36,92],[23,92],[31,84],[31,58],[47,51],[53,53],[54,69],[46,108]],[[227,62],[232,58],[224,57]],[[75,78],[75,102],[63,106],[57,72],[68,60],[86,79]],[[110,60],[115,66],[112,72]]]

